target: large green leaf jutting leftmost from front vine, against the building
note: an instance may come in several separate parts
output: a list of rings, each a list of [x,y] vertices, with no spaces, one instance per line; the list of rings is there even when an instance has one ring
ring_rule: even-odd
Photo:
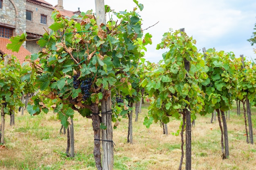
[[[23,44],[23,42],[26,41],[26,38],[27,38],[26,33],[22,33],[20,36],[17,35],[16,37],[11,37],[10,39],[11,43],[7,44],[6,48],[11,51],[19,52],[20,46]]]

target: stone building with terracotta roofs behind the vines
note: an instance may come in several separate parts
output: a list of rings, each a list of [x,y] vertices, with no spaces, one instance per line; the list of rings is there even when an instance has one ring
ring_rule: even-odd
[[[63,0],[53,6],[45,0],[0,0],[0,55],[15,55],[20,63],[25,61],[27,55],[37,53],[40,47],[36,38],[42,37],[45,30],[53,23],[52,12],[57,9],[64,16],[71,17],[80,11],[63,9]],[[27,33],[27,39],[19,53],[6,49],[11,36]]]

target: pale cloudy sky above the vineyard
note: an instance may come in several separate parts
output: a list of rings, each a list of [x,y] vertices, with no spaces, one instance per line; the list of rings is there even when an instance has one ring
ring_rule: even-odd
[[[58,0],[46,0],[52,5]],[[187,35],[196,40],[200,53],[202,48],[215,48],[216,51],[234,52],[236,57],[244,55],[247,60],[256,59],[247,40],[251,38],[256,23],[256,0],[138,0],[144,5],[139,12],[144,33],[150,33],[152,45],[146,46],[146,60],[159,62],[165,50],[156,50],[162,35],[169,29],[185,28]],[[132,11],[136,4],[132,0],[105,0],[115,11]],[[95,12],[94,0],[63,0],[66,10]],[[107,16],[108,20],[108,16]]]

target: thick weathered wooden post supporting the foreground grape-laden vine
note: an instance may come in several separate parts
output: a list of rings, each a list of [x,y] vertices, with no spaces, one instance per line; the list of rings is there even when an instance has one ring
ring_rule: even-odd
[[[97,17],[97,25],[106,24],[106,13],[104,0],[95,0],[95,9]],[[101,100],[101,122],[107,127],[106,130],[101,130],[101,142],[103,149],[102,169],[113,170],[114,166],[114,146],[113,146],[113,131],[112,131],[112,109],[111,109],[111,90],[105,91],[102,89],[103,99]]]

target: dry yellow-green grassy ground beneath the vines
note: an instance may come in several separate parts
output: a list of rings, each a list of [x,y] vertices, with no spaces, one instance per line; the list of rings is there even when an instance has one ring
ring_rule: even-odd
[[[147,107],[139,121],[133,121],[133,143],[127,144],[128,120],[123,119],[113,131],[115,142],[114,170],[177,170],[180,163],[180,135],[163,135],[159,124],[147,129],[143,125]],[[135,118],[135,116],[134,116]],[[227,121],[229,159],[221,159],[218,119],[210,124],[211,115],[199,116],[192,129],[193,170],[255,170],[256,145],[246,143],[243,113],[231,112]],[[256,128],[256,110],[252,110]],[[0,170],[96,170],[93,157],[91,119],[74,116],[75,157],[65,157],[66,136],[59,134],[60,121],[54,114],[31,117],[18,113],[15,126],[6,116],[5,148],[0,149]],[[176,132],[180,120],[171,120],[169,132]],[[255,136],[255,133],[254,133]],[[256,140],[256,139],[254,139]],[[185,159],[184,159],[185,160]],[[185,164],[182,166],[185,169]]]

